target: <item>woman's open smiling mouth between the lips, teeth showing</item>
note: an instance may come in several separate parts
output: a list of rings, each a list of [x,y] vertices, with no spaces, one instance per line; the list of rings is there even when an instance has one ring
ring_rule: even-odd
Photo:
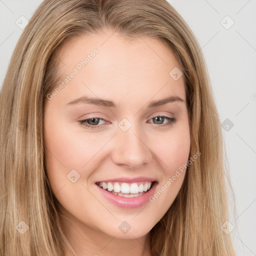
[[[137,197],[151,189],[156,181],[126,182],[96,182],[100,188],[122,197]]]

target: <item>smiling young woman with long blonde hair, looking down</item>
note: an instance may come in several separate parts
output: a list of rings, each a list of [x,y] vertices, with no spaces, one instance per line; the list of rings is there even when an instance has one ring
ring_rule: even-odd
[[[1,255],[234,255],[200,47],[165,0],[45,0],[1,94]]]

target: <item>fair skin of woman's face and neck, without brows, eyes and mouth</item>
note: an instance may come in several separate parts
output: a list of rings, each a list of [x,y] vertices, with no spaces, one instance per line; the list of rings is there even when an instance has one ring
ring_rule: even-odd
[[[146,36],[127,40],[106,30],[72,38],[59,48],[63,79],[94,48],[99,52],[46,102],[47,175],[61,225],[77,255],[150,255],[149,231],[175,199],[185,171],[154,202],[130,209],[109,202],[95,182],[147,176],[157,180],[157,191],[187,162],[190,135],[183,76],[174,80],[169,75],[178,63],[160,40]],[[119,107],[66,105],[83,95],[112,100]],[[147,107],[149,101],[166,95],[184,101]],[[168,120],[163,118],[161,124],[154,120],[156,115],[175,117],[176,122],[162,126]],[[93,117],[103,118],[94,121],[100,127],[91,129],[78,122]],[[118,127],[123,118],[131,123],[125,132]],[[72,169],[80,175],[74,183],[67,178]],[[118,229],[123,221],[131,227],[126,233]],[[65,256],[71,255],[65,251]]]

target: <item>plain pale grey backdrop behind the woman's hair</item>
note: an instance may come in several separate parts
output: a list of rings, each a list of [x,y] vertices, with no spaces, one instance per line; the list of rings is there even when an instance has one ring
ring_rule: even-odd
[[[29,20],[40,2],[0,0],[0,86],[22,33],[20,20]],[[236,214],[230,205],[229,226],[234,226],[237,256],[256,255],[256,1],[169,2],[192,29],[206,59],[235,193]]]

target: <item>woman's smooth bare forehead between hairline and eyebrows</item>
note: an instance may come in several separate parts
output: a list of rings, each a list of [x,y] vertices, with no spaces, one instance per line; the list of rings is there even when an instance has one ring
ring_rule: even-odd
[[[174,80],[170,75],[173,68],[181,68],[158,38],[128,38],[112,31],[87,34],[65,42],[56,55],[62,81],[76,73],[61,92],[65,98],[83,94],[113,100],[138,96],[149,100],[166,94],[185,98],[183,77]]]

